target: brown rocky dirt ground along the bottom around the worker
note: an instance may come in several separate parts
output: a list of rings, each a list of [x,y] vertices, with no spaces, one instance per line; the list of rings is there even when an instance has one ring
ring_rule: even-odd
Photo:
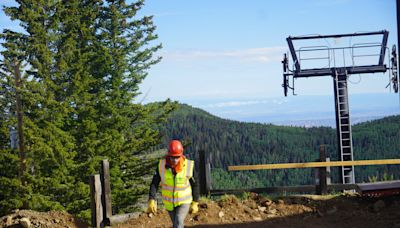
[[[186,218],[186,227],[362,227],[400,228],[400,195],[297,195],[268,199],[249,194],[245,199],[223,196],[218,201],[202,199],[199,213]],[[29,221],[30,226],[23,223]],[[88,227],[65,212],[27,210],[0,218],[0,227]],[[142,213],[113,227],[171,227],[168,213]]]

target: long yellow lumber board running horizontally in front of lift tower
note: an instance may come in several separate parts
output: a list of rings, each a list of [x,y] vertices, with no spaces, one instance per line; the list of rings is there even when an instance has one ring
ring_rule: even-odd
[[[328,166],[389,165],[389,164],[400,164],[400,159],[238,165],[238,166],[228,166],[228,170],[239,171],[239,170],[260,170],[260,169],[293,169],[293,168],[316,168],[316,167],[328,167]]]

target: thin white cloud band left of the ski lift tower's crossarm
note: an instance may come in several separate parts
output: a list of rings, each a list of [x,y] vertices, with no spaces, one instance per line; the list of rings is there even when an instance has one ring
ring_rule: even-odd
[[[250,62],[271,62],[282,58],[286,47],[264,47],[228,51],[178,50],[161,53],[165,61],[237,59]]]

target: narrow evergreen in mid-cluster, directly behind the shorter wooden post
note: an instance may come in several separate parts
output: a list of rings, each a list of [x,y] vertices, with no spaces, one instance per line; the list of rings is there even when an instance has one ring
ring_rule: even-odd
[[[69,169],[75,190],[65,192],[63,197],[69,212],[85,218],[90,216],[88,178],[99,172],[102,158],[95,150],[101,121],[95,106],[102,97],[98,93],[100,85],[90,72],[98,9],[99,1],[71,0],[59,3],[56,11],[59,37],[55,42],[54,75],[61,87],[56,97],[66,104],[62,128],[74,139],[76,151]]]

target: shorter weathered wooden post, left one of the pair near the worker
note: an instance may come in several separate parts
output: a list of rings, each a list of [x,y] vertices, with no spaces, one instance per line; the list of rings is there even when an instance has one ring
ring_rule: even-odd
[[[101,182],[100,175],[90,176],[90,199],[92,209],[92,227],[103,227],[103,209],[101,205]]]

